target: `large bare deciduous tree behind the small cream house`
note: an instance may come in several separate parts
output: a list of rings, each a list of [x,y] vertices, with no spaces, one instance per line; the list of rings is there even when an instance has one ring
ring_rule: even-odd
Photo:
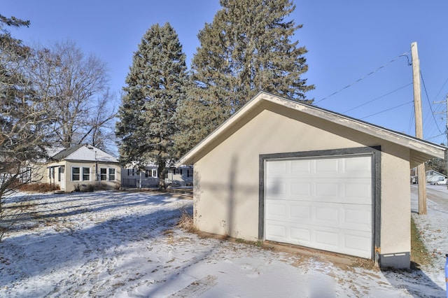
[[[107,135],[116,115],[116,94],[109,90],[106,64],[85,55],[72,41],[57,42],[37,51],[35,80],[41,96],[52,99],[57,115],[53,141],[62,147],[95,143],[106,149]],[[108,126],[109,125],[109,126]]]

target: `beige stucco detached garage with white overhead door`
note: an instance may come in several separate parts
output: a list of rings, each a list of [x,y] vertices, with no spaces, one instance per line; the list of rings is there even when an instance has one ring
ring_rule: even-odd
[[[409,268],[409,169],[445,150],[260,92],[177,164],[201,231]]]

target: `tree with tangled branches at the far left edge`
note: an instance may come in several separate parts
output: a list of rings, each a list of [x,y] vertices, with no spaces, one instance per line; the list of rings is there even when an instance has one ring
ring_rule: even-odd
[[[38,96],[31,79],[34,51],[11,36],[6,26],[28,27],[29,21],[0,15],[0,219],[6,195],[38,179],[31,166],[47,157],[53,120],[48,99]]]

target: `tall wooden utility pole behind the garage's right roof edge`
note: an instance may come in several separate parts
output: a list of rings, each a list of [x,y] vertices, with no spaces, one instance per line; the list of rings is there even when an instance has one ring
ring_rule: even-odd
[[[423,139],[423,120],[421,117],[420,61],[417,43],[411,44],[412,81],[414,83],[415,136]],[[426,173],[425,164],[417,166],[419,183],[419,214],[426,214]]]

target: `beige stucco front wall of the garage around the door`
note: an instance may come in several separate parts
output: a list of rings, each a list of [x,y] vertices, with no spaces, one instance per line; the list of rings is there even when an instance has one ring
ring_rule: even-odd
[[[198,229],[258,240],[261,154],[381,146],[381,253],[409,252],[409,150],[283,107],[252,115],[195,163]]]

